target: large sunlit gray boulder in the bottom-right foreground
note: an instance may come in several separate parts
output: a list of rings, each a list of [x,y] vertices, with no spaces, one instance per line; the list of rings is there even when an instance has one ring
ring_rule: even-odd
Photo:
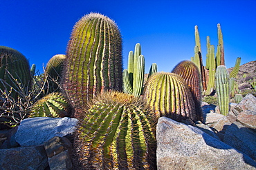
[[[158,169],[256,169],[252,158],[196,127],[158,119]]]

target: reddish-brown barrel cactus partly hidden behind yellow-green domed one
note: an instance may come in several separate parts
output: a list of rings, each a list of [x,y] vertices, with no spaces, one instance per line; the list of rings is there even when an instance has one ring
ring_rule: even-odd
[[[203,122],[201,77],[198,67],[192,61],[181,61],[174,67],[172,73],[179,74],[188,84],[194,98],[197,120]]]

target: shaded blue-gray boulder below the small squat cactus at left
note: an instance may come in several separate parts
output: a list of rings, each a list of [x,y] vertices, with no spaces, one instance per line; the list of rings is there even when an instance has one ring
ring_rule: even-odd
[[[15,140],[22,146],[43,145],[54,136],[63,137],[75,131],[75,118],[26,118],[21,121]]]

